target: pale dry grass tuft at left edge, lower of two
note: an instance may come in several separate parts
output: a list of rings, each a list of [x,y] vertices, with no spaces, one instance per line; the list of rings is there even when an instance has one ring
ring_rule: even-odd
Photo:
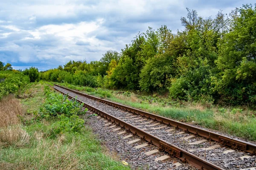
[[[8,126],[0,129],[0,146],[8,147],[15,145],[17,147],[29,143],[30,136],[20,125]]]

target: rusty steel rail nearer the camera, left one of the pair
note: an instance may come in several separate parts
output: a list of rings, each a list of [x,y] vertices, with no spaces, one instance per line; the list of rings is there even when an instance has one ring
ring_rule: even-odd
[[[51,85],[49,85],[49,86],[54,88]],[[64,95],[67,95],[70,99],[76,99],[75,97],[70,96],[69,94],[66,94],[65,92],[63,92],[57,88],[54,88],[54,89],[61,92]],[[224,170],[223,168],[221,168],[215,164],[212,164],[209,161],[206,161],[198,156],[195,156],[195,155],[187,152],[186,150],[181,149],[180,147],[170,144],[169,142],[166,142],[163,139],[158,138],[157,136],[147,133],[144,130],[141,130],[138,127],[135,127],[121,119],[118,119],[111,114],[108,114],[104,111],[99,110],[98,108],[88,105],[87,103],[85,103],[79,99],[76,99],[76,101],[83,103],[86,108],[88,108],[91,111],[97,113],[98,115],[104,117],[105,119],[108,119],[108,121],[111,121],[111,122],[115,123],[116,125],[122,127],[123,129],[126,129],[127,132],[132,132],[135,135],[140,136],[141,139],[148,141],[148,144],[154,144],[155,146],[158,147],[158,149],[160,151],[165,151],[165,152],[169,153],[169,156],[181,159],[183,163],[189,163],[198,169],[201,168],[201,170]]]

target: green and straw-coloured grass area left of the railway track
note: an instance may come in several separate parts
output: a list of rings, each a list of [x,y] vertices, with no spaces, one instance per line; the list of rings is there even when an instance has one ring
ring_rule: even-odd
[[[1,170],[130,169],[108,153],[89,127],[83,127],[80,133],[69,131],[52,135],[57,119],[31,119],[46,98],[44,85],[45,82],[31,83],[20,91],[19,100],[14,98],[23,107],[22,121],[18,114],[6,112],[10,113],[9,118],[16,116],[17,121],[10,119],[8,124],[0,127]],[[1,100],[0,104],[6,105],[6,102]],[[11,105],[8,107],[12,108]]]

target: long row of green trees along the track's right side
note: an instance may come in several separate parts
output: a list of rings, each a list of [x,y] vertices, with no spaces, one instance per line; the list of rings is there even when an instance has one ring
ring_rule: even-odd
[[[120,53],[70,61],[41,79],[74,85],[166,93],[174,99],[256,105],[256,5],[201,17],[187,9],[183,30],[137,34]]]

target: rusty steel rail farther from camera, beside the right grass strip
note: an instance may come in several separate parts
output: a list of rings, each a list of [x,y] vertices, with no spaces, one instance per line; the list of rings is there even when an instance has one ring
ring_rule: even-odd
[[[224,135],[221,135],[221,134],[218,134],[218,133],[214,133],[214,132],[211,132],[209,130],[204,130],[204,129],[201,129],[199,127],[194,127],[192,125],[187,125],[185,123],[178,122],[178,121],[175,121],[175,120],[172,120],[172,119],[168,119],[168,118],[163,117],[163,116],[158,116],[158,115],[155,115],[155,114],[152,114],[152,113],[141,111],[141,110],[131,108],[131,107],[128,107],[128,106],[125,106],[125,105],[121,105],[121,104],[118,104],[118,103],[115,103],[115,102],[110,102],[110,101],[105,100],[105,99],[100,99],[98,97],[91,96],[91,95],[88,95],[88,94],[84,94],[84,93],[81,93],[79,91],[75,91],[75,90],[60,86],[60,85],[55,85],[55,86],[58,86],[60,88],[64,88],[68,91],[72,91],[73,93],[79,94],[81,96],[85,96],[87,98],[94,99],[94,100],[97,100],[99,102],[114,106],[116,108],[121,108],[121,109],[124,109],[126,111],[130,111],[132,113],[136,113],[138,115],[141,115],[143,117],[147,117],[149,119],[154,119],[154,120],[162,122],[166,125],[174,126],[176,128],[184,130],[185,132],[194,133],[195,136],[203,136],[203,137],[207,138],[207,140],[213,140],[213,141],[216,141],[216,142],[220,142],[221,146],[228,146],[228,147],[231,147],[235,150],[243,150],[243,151],[246,151],[248,153],[252,153],[253,155],[255,155],[256,144],[245,142],[245,141],[242,141],[242,140],[239,140],[239,139],[233,139],[233,138],[230,138],[228,136],[224,136]]]

